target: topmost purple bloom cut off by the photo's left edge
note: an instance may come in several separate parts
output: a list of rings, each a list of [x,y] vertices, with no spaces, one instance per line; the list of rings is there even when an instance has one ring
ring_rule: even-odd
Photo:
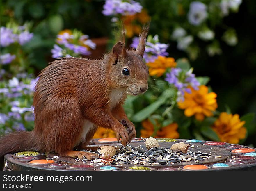
[[[17,35],[13,34],[13,30],[6,27],[0,28],[0,44],[2,47],[7,47],[17,40]]]

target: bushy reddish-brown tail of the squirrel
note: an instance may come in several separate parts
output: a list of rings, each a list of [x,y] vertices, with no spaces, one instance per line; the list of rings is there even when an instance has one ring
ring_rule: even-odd
[[[33,131],[17,131],[0,137],[0,158],[7,153],[37,150]]]

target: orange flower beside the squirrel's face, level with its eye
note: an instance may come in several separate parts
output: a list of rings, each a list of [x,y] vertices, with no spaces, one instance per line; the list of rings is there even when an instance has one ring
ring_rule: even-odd
[[[149,66],[149,75],[160,77],[166,71],[167,68],[176,67],[174,58],[158,56],[154,62],[147,63]]]

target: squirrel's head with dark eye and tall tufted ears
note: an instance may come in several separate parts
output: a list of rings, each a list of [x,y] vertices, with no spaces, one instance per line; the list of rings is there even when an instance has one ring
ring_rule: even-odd
[[[108,74],[112,88],[122,88],[130,95],[142,94],[147,90],[148,67],[143,61],[143,54],[148,28],[149,26],[143,28],[136,51],[126,50],[121,41],[114,45]]]

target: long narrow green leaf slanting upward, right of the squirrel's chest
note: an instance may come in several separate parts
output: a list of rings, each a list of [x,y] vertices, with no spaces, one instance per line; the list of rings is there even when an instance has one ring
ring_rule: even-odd
[[[133,122],[141,122],[156,111],[165,101],[174,95],[174,90],[166,89],[161,96],[152,104],[140,110],[132,117]]]

